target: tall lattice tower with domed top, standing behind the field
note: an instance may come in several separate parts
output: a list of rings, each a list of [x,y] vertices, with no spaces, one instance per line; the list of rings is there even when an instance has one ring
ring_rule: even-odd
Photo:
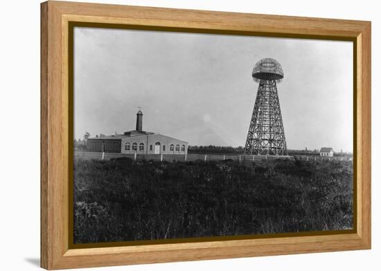
[[[288,155],[276,83],[283,78],[281,64],[263,58],[254,66],[253,79],[259,82],[251,116],[245,155]]]

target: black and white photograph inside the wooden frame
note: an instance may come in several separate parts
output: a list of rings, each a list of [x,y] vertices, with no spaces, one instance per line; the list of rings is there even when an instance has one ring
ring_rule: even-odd
[[[353,69],[349,41],[76,26],[74,244],[353,229]]]

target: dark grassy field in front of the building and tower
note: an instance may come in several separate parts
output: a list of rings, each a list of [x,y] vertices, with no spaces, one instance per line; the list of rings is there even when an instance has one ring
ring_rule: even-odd
[[[74,242],[350,229],[351,161],[81,161]]]

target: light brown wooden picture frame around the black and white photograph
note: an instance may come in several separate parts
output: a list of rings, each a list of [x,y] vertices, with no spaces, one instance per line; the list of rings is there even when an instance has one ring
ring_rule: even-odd
[[[354,44],[355,229],[237,240],[72,248],[71,22],[118,28],[350,40]],[[371,22],[47,1],[41,4],[41,266],[48,270],[371,248]]]

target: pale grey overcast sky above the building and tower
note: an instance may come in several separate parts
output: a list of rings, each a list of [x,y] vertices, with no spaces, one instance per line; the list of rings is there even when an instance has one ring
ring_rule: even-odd
[[[261,58],[281,63],[287,148],[353,150],[353,44],[75,28],[74,136],[135,129],[190,145],[245,146]]]

